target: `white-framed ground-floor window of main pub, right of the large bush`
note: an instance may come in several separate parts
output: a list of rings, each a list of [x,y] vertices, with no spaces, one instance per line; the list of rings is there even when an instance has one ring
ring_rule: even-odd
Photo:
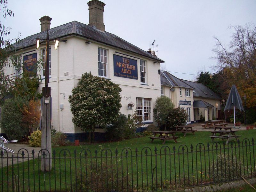
[[[151,99],[136,98],[136,111],[144,122],[151,121]]]

